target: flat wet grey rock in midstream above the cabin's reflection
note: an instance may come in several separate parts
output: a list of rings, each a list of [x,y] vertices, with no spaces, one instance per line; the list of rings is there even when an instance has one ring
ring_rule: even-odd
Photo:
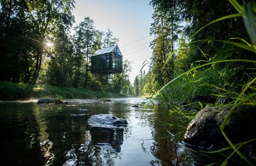
[[[98,114],[91,116],[88,119],[88,124],[92,127],[104,127],[104,128],[125,128],[127,121],[125,119],[117,118],[111,114]]]

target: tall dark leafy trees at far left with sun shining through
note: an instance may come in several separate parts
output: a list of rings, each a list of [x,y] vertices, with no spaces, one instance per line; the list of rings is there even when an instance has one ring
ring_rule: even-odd
[[[36,84],[47,43],[72,27],[73,0],[1,1],[1,81]],[[13,61],[15,59],[15,61]]]

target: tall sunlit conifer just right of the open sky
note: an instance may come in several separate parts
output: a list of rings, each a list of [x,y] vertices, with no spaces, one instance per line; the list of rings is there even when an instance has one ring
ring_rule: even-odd
[[[170,10],[163,10],[156,5],[152,15],[154,23],[151,24],[150,35],[155,36],[150,43],[153,49],[152,72],[155,75],[155,81],[161,86],[173,77],[174,55],[170,55],[174,51],[174,44],[178,39],[177,34],[180,33],[181,28],[179,26],[181,19],[177,17],[177,10],[176,6]]]

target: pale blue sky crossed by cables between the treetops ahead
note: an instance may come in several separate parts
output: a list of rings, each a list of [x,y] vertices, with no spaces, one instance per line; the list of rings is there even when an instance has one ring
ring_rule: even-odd
[[[90,17],[96,29],[112,31],[113,37],[119,39],[118,47],[123,59],[133,61],[129,77],[134,83],[136,75],[145,61],[150,62],[152,49],[149,42],[153,36],[149,35],[150,24],[153,23],[152,6],[150,0],[75,0],[75,25]],[[148,71],[148,67],[143,70]]]

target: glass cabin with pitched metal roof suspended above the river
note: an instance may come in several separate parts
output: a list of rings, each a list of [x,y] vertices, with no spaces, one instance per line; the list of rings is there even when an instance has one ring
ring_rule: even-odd
[[[116,74],[122,73],[123,56],[118,46],[98,49],[91,56],[91,73]]]

